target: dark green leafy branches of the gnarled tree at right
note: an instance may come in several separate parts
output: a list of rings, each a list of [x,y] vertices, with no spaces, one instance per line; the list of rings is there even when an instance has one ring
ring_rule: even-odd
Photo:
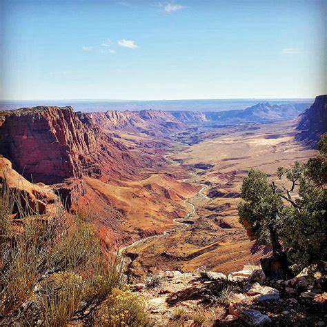
[[[327,259],[327,135],[319,142],[320,155],[306,164],[295,162],[277,170],[279,181],[268,183],[263,172],[250,170],[244,178],[239,221],[259,244],[273,246],[297,269]]]

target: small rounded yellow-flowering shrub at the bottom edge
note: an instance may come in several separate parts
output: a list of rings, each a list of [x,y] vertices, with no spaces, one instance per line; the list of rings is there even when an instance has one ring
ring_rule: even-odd
[[[150,326],[145,313],[146,301],[130,290],[115,288],[104,302],[101,321],[105,326]]]

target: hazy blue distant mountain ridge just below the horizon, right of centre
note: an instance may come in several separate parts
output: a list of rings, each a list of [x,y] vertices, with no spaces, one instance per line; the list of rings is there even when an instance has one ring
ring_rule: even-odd
[[[309,103],[257,103],[243,110],[221,112],[174,111],[172,115],[187,124],[270,122],[293,119],[310,106]]]

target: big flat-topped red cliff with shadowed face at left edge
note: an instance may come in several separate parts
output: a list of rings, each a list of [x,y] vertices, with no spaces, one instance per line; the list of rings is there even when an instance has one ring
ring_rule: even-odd
[[[54,184],[99,174],[87,156],[97,148],[95,130],[86,128],[71,107],[36,107],[2,112],[0,153],[35,182]]]

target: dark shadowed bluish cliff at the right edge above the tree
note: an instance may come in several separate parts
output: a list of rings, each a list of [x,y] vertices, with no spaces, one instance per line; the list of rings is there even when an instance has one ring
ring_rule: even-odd
[[[315,103],[299,117],[297,130],[298,141],[315,146],[320,135],[327,132],[327,95],[316,97]]]

